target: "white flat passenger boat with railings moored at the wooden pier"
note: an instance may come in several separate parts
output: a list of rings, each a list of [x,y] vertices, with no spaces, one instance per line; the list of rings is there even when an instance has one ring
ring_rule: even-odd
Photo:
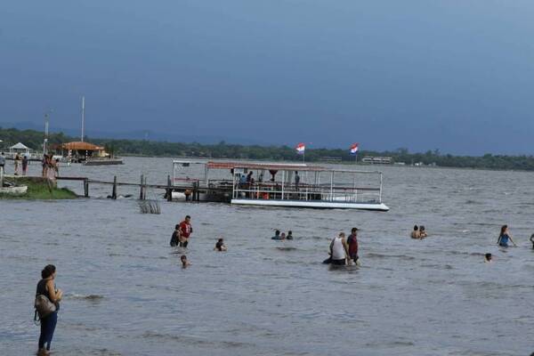
[[[191,178],[200,172],[203,178]],[[174,160],[173,188],[176,198],[241,206],[389,210],[382,202],[383,174],[378,171]]]

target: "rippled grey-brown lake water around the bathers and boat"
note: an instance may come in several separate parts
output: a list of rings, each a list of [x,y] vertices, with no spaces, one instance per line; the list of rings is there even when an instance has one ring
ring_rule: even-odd
[[[125,158],[61,174],[166,182],[171,162]],[[534,352],[534,174],[380,169],[387,213],[161,200],[157,215],[127,198],[0,200],[0,354],[36,351],[33,298],[47,263],[66,293],[55,355]],[[69,185],[81,193],[81,183]],[[110,190],[92,185],[90,193]],[[139,192],[119,187],[127,193]],[[185,214],[194,233],[192,265],[182,270],[168,243]],[[409,239],[415,223],[428,239]],[[496,246],[505,223],[518,247]],[[362,265],[322,264],[329,239],[353,226]],[[272,241],[275,228],[295,240]],[[213,251],[219,236],[226,253]],[[486,252],[494,263],[483,263]]]

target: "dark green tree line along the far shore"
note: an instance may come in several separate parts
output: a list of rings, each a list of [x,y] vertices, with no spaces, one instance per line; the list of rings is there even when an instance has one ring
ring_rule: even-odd
[[[7,150],[9,146],[22,142],[32,150],[41,150],[44,135],[35,130],[18,130],[0,127],[0,147]],[[48,142],[61,144],[64,142],[79,141],[79,138],[70,137],[62,133],[49,135]],[[239,145],[226,142],[216,144],[182,143],[182,142],[155,142],[145,140],[117,140],[87,138],[92,142],[104,146],[106,150],[115,155],[139,156],[166,156],[166,157],[199,157],[199,158],[241,158],[257,160],[287,160],[301,159],[293,147],[288,146],[258,146]],[[402,162],[407,165],[423,164],[463,168],[489,168],[489,169],[516,169],[534,171],[533,156],[503,156],[486,154],[484,156],[452,156],[441,154],[440,150],[428,150],[425,153],[410,153],[408,149],[376,152],[361,150],[359,158],[365,156],[387,156],[393,162]],[[349,150],[342,149],[306,149],[306,162],[323,161],[325,158],[336,159],[341,162],[352,162],[354,157]]]

